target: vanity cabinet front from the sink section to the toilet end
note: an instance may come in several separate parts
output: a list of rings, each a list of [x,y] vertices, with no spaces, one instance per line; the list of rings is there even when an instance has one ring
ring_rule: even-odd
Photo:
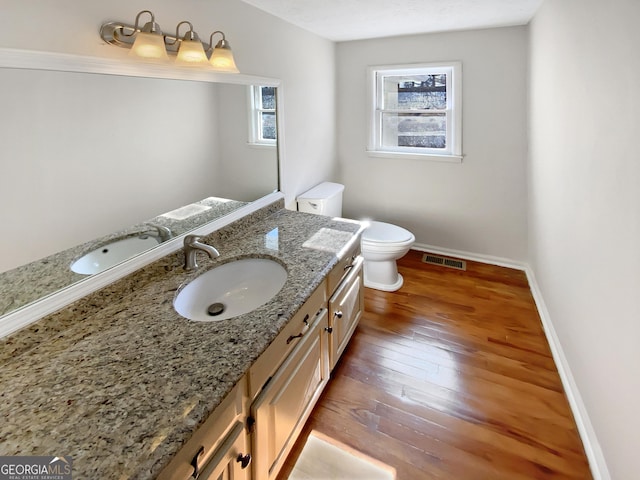
[[[362,263],[357,242],[250,370],[250,398],[257,394],[250,407],[254,480],[277,476],[358,325]],[[286,344],[294,338],[292,349]]]

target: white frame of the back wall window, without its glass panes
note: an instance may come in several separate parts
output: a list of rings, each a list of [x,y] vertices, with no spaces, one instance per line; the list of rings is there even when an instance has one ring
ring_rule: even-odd
[[[405,113],[403,110],[383,108],[382,77],[388,75],[447,75],[447,106],[439,112],[446,116],[446,147],[390,147],[382,144],[382,116],[384,112]],[[370,156],[414,158],[439,161],[462,161],[462,63],[441,62],[409,65],[385,65],[368,68],[370,124],[367,152]],[[433,113],[433,110],[407,110],[406,113]]]

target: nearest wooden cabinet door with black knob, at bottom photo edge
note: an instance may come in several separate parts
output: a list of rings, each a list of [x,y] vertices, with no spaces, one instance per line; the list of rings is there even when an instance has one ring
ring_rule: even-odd
[[[198,480],[249,480],[251,455],[244,425],[238,422],[211,461],[197,475]]]

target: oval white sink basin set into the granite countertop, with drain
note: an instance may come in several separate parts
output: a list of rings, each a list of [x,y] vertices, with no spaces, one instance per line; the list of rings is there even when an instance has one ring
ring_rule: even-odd
[[[212,322],[249,313],[271,300],[287,280],[282,265],[265,258],[225,263],[189,282],[173,307],[198,322]]]

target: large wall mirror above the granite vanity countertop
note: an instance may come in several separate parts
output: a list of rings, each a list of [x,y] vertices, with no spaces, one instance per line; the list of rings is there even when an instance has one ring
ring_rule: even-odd
[[[276,81],[1,60],[0,318],[279,189]]]

